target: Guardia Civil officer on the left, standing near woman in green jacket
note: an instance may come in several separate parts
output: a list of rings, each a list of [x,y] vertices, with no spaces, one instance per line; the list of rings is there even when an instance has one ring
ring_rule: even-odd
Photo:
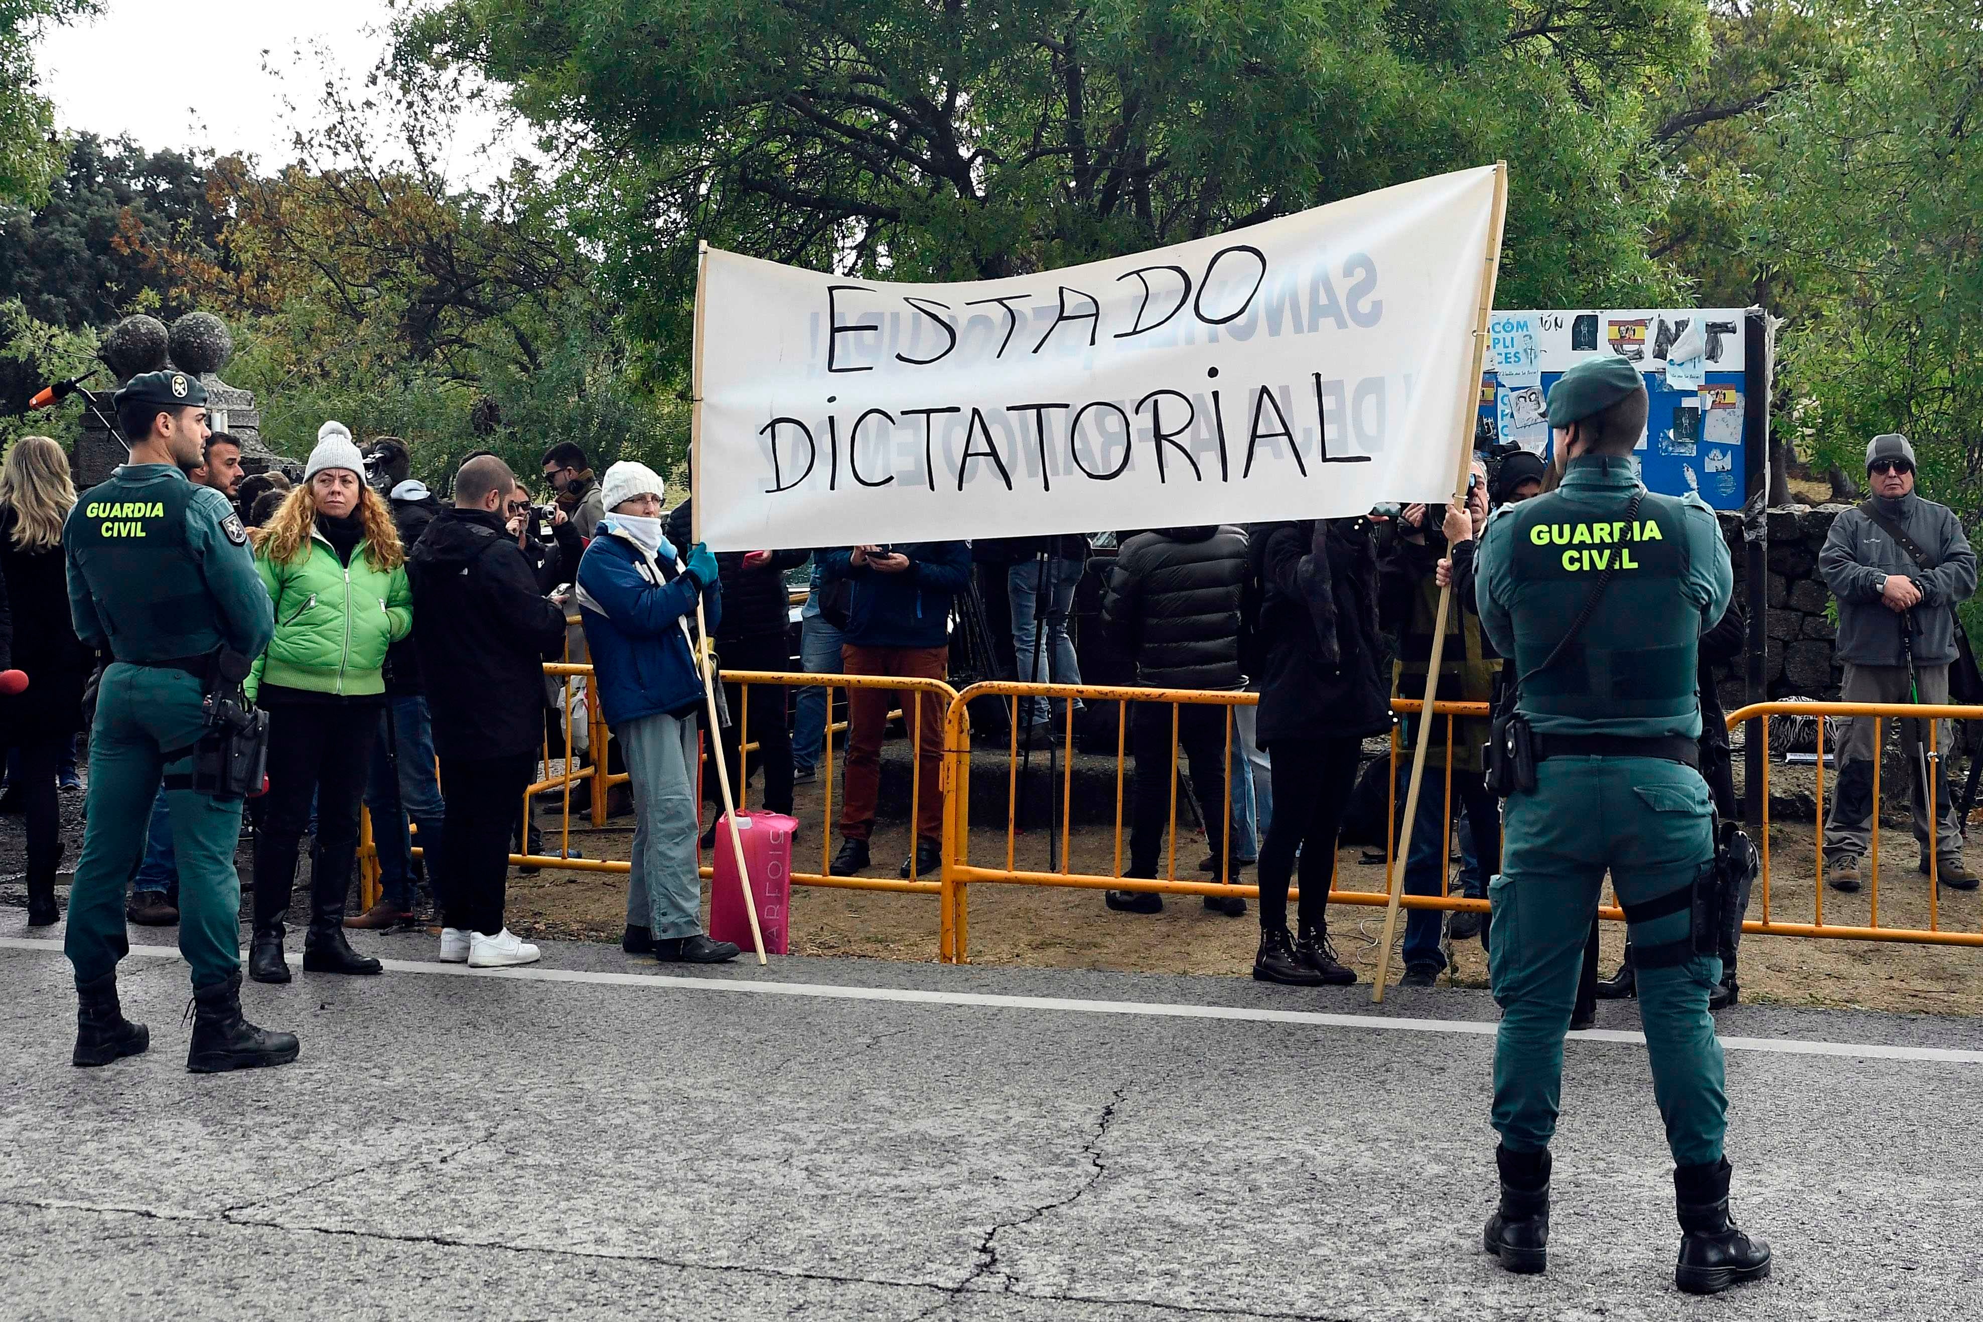
[[[97,688],[83,856],[69,888],[65,949],[81,1001],[73,1060],[109,1064],[151,1043],[117,1005],[117,961],[129,951],[123,888],[163,777],[178,848],[178,951],[192,965],[198,1007],[186,1068],[288,1064],[295,1037],[264,1033],[240,1009],[242,801],[192,789],[220,652],[256,656],[274,612],[234,505],[186,480],[208,434],[198,379],[133,377],[113,404],[131,462],[75,501],[61,533],[75,632],[115,658]]]

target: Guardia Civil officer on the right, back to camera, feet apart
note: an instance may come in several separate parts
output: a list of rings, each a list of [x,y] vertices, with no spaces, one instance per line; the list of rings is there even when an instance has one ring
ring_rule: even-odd
[[[1481,624],[1511,658],[1535,733],[1533,789],[1507,799],[1501,876],[1489,888],[1501,1207],[1485,1249],[1509,1270],[1545,1267],[1563,1033],[1610,870],[1676,1165],[1674,1282],[1713,1294],[1769,1274],[1769,1247],[1729,1221],[1727,1094],[1707,1015],[1721,959],[1717,934],[1693,922],[1695,890],[1717,894],[1695,769],[1695,650],[1727,610],[1729,553],[1699,497],[1640,488],[1632,448],[1646,388],[1630,363],[1578,363],[1547,406],[1563,486],[1495,513],[1477,551]]]

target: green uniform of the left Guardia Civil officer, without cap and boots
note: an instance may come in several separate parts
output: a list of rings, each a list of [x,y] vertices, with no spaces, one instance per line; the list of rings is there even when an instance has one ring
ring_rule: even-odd
[[[194,793],[184,777],[206,725],[194,670],[220,646],[256,656],[274,632],[248,537],[220,492],[192,486],[171,464],[127,464],[75,501],[61,543],[75,632],[115,658],[89,727],[89,819],[69,888],[75,981],[115,971],[129,951],[123,892],[163,777],[178,856],[178,949],[194,987],[220,983],[240,967],[242,801]]]

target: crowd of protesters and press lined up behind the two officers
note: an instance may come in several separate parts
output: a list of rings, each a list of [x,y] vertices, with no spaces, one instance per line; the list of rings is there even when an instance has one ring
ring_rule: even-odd
[[[1501,694],[1509,676],[1481,622],[1473,549],[1491,511],[1519,505],[1559,478],[1527,452],[1493,456],[1491,466],[1481,458],[1465,501],[1452,507],[1120,533],[1116,553],[1097,561],[1089,537],[716,555],[692,545],[692,501],[670,505],[660,474],[619,462],[599,478],[573,444],[543,452],[545,503],[535,503],[524,482],[486,452],[448,476],[442,499],[412,478],[407,446],[391,436],[361,448],[343,424],[325,422],[292,482],[280,472],[242,476],[234,438],[204,434],[200,424],[192,448],[182,432],[159,422],[163,404],[149,408],[119,414],[133,442],[133,466],[119,470],[119,480],[165,482],[143,472],[139,448],[149,446],[147,458],[171,456],[194,490],[218,496],[224,505],[212,509],[228,509],[224,537],[232,541],[238,531],[242,555],[252,557],[252,575],[238,591],[258,595],[254,610],[268,614],[266,636],[242,630],[256,634],[242,692],[268,716],[266,793],[252,797],[248,811],[248,975],[270,983],[292,977],[284,943],[305,838],[303,971],[381,971],[381,961],[355,949],[347,934],[414,922],[414,842],[432,882],[440,959],[504,967],[539,957],[535,945],[508,930],[504,896],[512,842],[527,854],[541,850],[522,805],[543,747],[555,747],[559,723],[571,719],[559,686],[541,668],[565,654],[593,666],[589,700],[613,733],[605,755],[631,779],[625,949],[690,963],[736,957],[738,947],[712,939],[700,922],[698,848],[714,838],[714,815],[704,828],[704,799],[714,797],[716,777],[700,773],[710,696],[698,650],[714,646],[726,670],[791,668],[787,577],[807,565],[797,650],[809,674],[944,680],[958,599],[995,577],[1009,603],[1013,674],[1057,684],[1081,682],[1069,628],[1075,591],[1083,575],[1107,565],[1099,622],[1132,662],[1136,684],[1257,694],[1257,708],[1237,710],[1180,704],[1174,714],[1164,700],[1134,704],[1126,876],[1162,876],[1178,775],[1188,771],[1210,846],[1200,870],[1241,880],[1245,868],[1257,868],[1261,939],[1253,975],[1285,985],[1350,983],[1354,973],[1329,939],[1327,896],[1344,813],[1360,775],[1370,773],[1364,743],[1392,729],[1394,698],[1491,702]],[[1975,559],[1955,517],[1914,496],[1914,452],[1904,438],[1880,438],[1868,474],[1876,499],[1834,523],[1822,561],[1840,599],[1846,696],[1892,700],[1916,676],[1920,698],[1935,700],[1947,692],[1955,646],[1947,606],[1973,591]],[[161,490],[176,492],[171,484]],[[63,761],[73,757],[83,727],[85,686],[101,684],[101,666],[125,652],[113,624],[117,608],[85,618],[77,593],[89,601],[93,589],[73,545],[63,571],[63,525],[73,521],[75,505],[56,442],[26,438],[8,450],[0,466],[0,585],[12,606],[12,664],[28,672],[30,694],[0,698],[0,731],[8,743],[8,793],[28,825],[32,926],[59,916],[58,795]],[[1910,559],[1920,547],[1874,535],[1882,519],[1908,521],[1931,549]],[[103,557],[131,555],[129,545],[105,547],[91,553],[105,565],[111,559]],[[171,603],[167,597],[147,614],[167,632],[171,620],[161,612]],[[1432,676],[1442,603],[1450,612],[1448,642]],[[1880,622],[1882,606],[1902,616],[1898,632]],[[1924,628],[1910,632],[1912,620]],[[0,632],[0,660],[4,638]],[[1737,805],[1711,666],[1739,654],[1743,640],[1743,614],[1731,608],[1703,634],[1695,680],[1707,714],[1699,767],[1725,817],[1735,817]],[[159,648],[165,662],[139,664],[198,670],[192,660],[200,648],[190,642]],[[1900,648],[1906,658],[1896,654]],[[789,813],[793,787],[821,771],[827,694],[805,688],[791,704],[781,686],[722,688],[716,706],[726,714],[724,727],[708,739],[708,751],[726,761],[732,785],[761,773],[759,803]],[[942,866],[940,700],[918,690],[851,688],[841,840],[831,858],[837,876],[875,866],[880,751],[894,708],[920,741],[914,842],[900,874],[932,876]],[[1235,716],[1229,741],[1227,712]],[[1061,739],[1081,714],[1077,700],[1039,698],[1015,704],[1015,716],[1031,743]],[[1404,743],[1414,747],[1416,717],[1404,723]],[[744,757],[746,737],[756,757]],[[1448,725],[1436,717],[1428,765],[1450,765],[1452,795],[1420,797],[1404,860],[1408,894],[1448,886],[1456,844],[1459,892],[1487,894],[1501,852],[1501,813],[1483,777],[1485,741],[1483,719]],[[1856,854],[1870,817],[1860,781],[1870,781],[1870,729],[1854,727],[1842,747],[1840,793],[1824,838],[1832,884],[1842,890],[1858,884]],[[1400,777],[1408,773],[1410,759],[1402,759]],[[212,848],[175,807],[175,785],[184,783],[171,767],[163,783],[155,775],[145,791],[151,811],[141,815],[147,828],[119,844],[131,852],[129,922],[182,922],[184,850]],[[1937,803],[1949,803],[1945,789]],[[371,910],[347,916],[361,805],[371,809],[383,894]],[[1920,787],[1916,805],[1925,850]],[[1945,815],[1935,838],[1939,882],[1975,886],[1961,856],[1961,823]],[[1301,900],[1291,924],[1287,902],[1297,870]],[[1114,890],[1107,906],[1150,914],[1162,910],[1162,896]],[[1237,896],[1214,894],[1206,906],[1245,914]],[[200,920],[206,928],[214,922]],[[1739,924],[1737,910],[1727,920],[1715,1005],[1737,997]],[[1404,983],[1432,985],[1446,969],[1448,943],[1465,939],[1487,939],[1479,914],[1410,910]],[[1590,1021],[1598,997],[1632,989],[1630,947],[1616,977],[1598,981],[1592,930],[1576,1021]]]

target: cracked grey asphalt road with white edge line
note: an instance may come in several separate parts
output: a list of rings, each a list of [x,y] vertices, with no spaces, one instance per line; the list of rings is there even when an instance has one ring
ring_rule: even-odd
[[[1969,1021],[1723,1019],[1735,1205],[1777,1274],[1691,1300],[1630,1007],[1569,1047],[1551,1270],[1517,1278],[1477,1241],[1479,993],[664,977],[597,945],[490,975],[361,937],[401,963],[250,985],[295,1064],[208,1078],[159,947],[123,965],[151,1052],[71,1068],[67,961],[20,924],[0,910],[6,1318],[1983,1314]]]

